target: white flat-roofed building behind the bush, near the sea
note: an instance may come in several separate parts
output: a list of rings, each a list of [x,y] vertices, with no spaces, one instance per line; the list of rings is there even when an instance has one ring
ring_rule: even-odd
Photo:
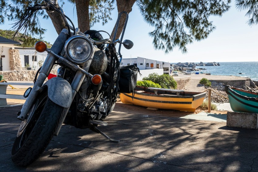
[[[129,66],[131,64],[139,67],[142,74],[142,76],[137,75],[137,80],[142,80],[143,77],[148,77],[151,73],[158,73],[159,75],[171,74],[170,63],[142,57],[122,59],[120,66]]]

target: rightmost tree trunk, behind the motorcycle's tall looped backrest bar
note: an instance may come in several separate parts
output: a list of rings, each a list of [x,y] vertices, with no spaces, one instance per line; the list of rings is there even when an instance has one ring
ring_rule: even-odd
[[[132,11],[132,7],[136,0],[116,0],[116,1],[117,1],[117,11],[118,11],[118,15],[119,15],[123,11],[125,11],[129,14]],[[122,14],[119,25],[118,25],[117,35],[116,35],[115,40],[120,37],[120,35],[123,31],[125,19],[126,19],[126,16],[124,14]],[[114,29],[111,33],[111,38],[113,38],[113,36],[114,36],[115,29],[116,29],[116,26],[114,26]]]

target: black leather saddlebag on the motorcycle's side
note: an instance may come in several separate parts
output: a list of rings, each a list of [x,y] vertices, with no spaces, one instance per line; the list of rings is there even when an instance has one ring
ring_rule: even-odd
[[[140,70],[134,65],[120,67],[120,77],[118,81],[120,93],[131,93],[134,91],[137,83],[137,73]]]

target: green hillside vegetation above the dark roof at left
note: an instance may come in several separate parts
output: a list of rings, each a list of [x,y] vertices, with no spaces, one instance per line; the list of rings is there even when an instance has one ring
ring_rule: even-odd
[[[37,41],[40,41],[37,38],[32,38],[32,37],[25,38],[21,33],[18,33],[17,36],[15,38],[13,38],[14,33],[15,33],[15,31],[12,31],[12,30],[2,30],[2,29],[0,29],[0,35],[2,37],[8,38],[10,40],[15,40],[15,41],[22,44],[22,45],[17,45],[17,46],[34,47],[34,44]],[[47,42],[47,41],[44,41],[44,42],[47,44],[48,48],[52,46],[49,42]]]

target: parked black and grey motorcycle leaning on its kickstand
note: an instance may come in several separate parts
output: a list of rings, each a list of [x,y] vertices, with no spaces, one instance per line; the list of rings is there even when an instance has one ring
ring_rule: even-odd
[[[36,51],[46,51],[48,55],[36,73],[34,86],[25,91],[27,99],[17,114],[22,123],[12,147],[12,161],[19,166],[28,166],[36,160],[52,137],[58,135],[63,123],[80,129],[89,128],[110,141],[119,142],[105,135],[97,126],[107,126],[104,119],[114,109],[118,91],[123,92],[119,88],[121,44],[127,49],[133,46],[130,40],[122,42],[128,20],[126,12],[122,12],[127,17],[121,39],[115,40],[122,13],[118,16],[114,38],[111,39],[105,31],[80,32],[64,15],[57,1],[44,0],[44,4],[27,10],[41,9],[58,12],[68,27],[62,30],[51,49],[43,41],[35,43]],[[22,28],[25,19],[26,16],[19,22],[19,28]],[[103,39],[100,32],[107,33],[110,38]],[[118,53],[116,43],[119,43]],[[45,82],[56,64],[60,66],[57,77]],[[135,79],[139,70],[132,67],[130,71],[129,80]],[[130,86],[130,89],[134,87]]]

